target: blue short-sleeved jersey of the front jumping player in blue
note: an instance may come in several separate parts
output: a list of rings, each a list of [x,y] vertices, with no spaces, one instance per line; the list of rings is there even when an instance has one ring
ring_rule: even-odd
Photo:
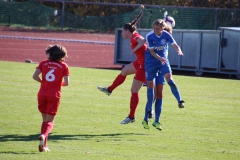
[[[159,56],[167,58],[168,42],[171,44],[176,43],[172,35],[163,30],[161,36],[157,36],[153,31],[146,35],[147,51],[145,52],[145,62],[159,61],[152,56],[149,49],[154,49]]]

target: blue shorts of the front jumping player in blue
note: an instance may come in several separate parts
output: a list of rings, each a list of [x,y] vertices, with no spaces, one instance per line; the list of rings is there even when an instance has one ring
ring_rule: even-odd
[[[152,63],[152,62],[146,63],[145,62],[145,72],[146,72],[146,80],[152,81],[156,77],[156,74],[158,72],[160,73],[159,75],[162,75],[162,78],[164,78],[163,76],[167,73],[172,73],[172,70],[171,70],[171,66],[168,61],[164,65],[162,65],[162,63],[160,61],[158,61],[158,62],[154,62],[154,63]]]

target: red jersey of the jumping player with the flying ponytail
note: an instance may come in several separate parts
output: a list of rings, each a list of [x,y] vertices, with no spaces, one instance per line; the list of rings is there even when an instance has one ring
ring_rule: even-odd
[[[140,34],[137,32],[133,33],[130,43],[131,43],[131,48],[134,49],[138,45],[138,38],[142,37]],[[144,65],[144,53],[147,50],[147,45],[144,43],[135,53],[137,57],[138,64]]]

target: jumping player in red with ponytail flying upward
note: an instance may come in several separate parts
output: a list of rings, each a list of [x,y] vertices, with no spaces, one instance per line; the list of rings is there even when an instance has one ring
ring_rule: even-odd
[[[126,117],[126,119],[121,122],[121,124],[135,122],[135,111],[139,103],[138,92],[142,84],[146,81],[144,68],[144,53],[147,49],[147,45],[145,43],[145,39],[136,31],[136,24],[143,14],[143,9],[144,6],[142,6],[142,11],[134,21],[132,21],[131,23],[126,23],[122,27],[122,36],[125,39],[130,39],[130,45],[132,48],[130,54],[135,54],[137,59],[132,63],[126,65],[122,69],[121,73],[115,78],[112,85],[110,85],[109,87],[98,86],[98,89],[100,91],[106,93],[107,95],[110,95],[116,87],[118,87],[125,81],[128,75],[135,74],[131,88],[132,96],[130,99],[130,113]]]

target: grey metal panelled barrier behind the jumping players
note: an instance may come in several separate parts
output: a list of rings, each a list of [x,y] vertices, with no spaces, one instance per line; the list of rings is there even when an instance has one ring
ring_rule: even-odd
[[[138,29],[146,36],[152,29]],[[236,75],[240,79],[240,27],[220,27],[219,30],[174,29],[173,37],[184,56],[169,47],[169,61],[173,70]],[[122,37],[122,29],[115,30],[114,64],[126,65],[136,59],[131,56],[130,42]]]

